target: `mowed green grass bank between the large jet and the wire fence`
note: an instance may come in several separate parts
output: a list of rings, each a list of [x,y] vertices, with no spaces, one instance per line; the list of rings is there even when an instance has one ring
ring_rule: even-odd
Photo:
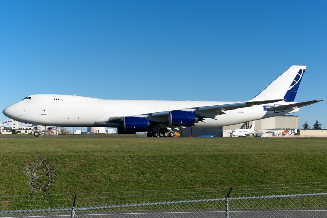
[[[321,182],[326,157],[325,138],[1,137],[0,195]],[[46,191],[36,163],[53,169]]]

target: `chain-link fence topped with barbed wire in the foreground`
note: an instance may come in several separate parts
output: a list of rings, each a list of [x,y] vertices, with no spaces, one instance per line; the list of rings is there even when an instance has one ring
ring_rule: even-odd
[[[0,217],[327,217],[327,182],[0,197]]]

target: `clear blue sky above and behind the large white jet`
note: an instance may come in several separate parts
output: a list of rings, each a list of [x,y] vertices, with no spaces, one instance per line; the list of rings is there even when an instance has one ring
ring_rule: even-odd
[[[42,93],[243,101],[293,64],[308,66],[295,100],[326,99],[326,11],[326,1],[1,1],[0,109]],[[294,115],[327,128],[326,109]]]

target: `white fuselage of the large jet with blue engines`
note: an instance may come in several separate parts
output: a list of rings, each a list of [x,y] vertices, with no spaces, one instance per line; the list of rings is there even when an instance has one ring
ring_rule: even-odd
[[[237,102],[217,101],[158,101],[158,100],[103,100],[81,96],[43,94],[29,97],[7,107],[3,113],[15,120],[48,126],[107,126],[121,127],[121,123],[110,122],[112,117],[144,116],[149,114],[231,104]],[[287,104],[276,102],[274,104]],[[270,104],[270,105],[274,105]],[[269,104],[268,104],[269,105]],[[219,127],[283,115],[298,110],[281,112],[265,111],[263,105],[224,111],[214,119],[205,118],[193,127]],[[168,115],[167,115],[168,116]]]

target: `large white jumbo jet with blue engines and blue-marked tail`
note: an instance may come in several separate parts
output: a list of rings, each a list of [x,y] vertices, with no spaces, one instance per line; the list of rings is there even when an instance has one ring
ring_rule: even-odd
[[[119,134],[147,131],[148,136],[174,136],[172,129],[178,127],[233,125],[297,112],[300,107],[322,101],[294,102],[305,69],[290,67],[248,101],[105,100],[37,94],[6,107],[3,114],[37,125],[117,127]]]

